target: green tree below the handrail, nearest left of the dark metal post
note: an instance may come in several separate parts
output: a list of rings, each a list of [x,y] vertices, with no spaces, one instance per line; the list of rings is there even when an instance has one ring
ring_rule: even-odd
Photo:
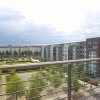
[[[64,71],[62,70],[61,66],[59,65],[52,65],[51,67],[50,66],[47,66],[48,71],[46,73],[46,76],[47,76],[47,80],[49,83],[52,84],[52,86],[55,88],[55,93],[56,93],[56,96],[57,96],[57,88],[61,85],[61,82],[62,82],[62,73],[64,73]],[[48,88],[51,90],[53,90],[53,88]]]

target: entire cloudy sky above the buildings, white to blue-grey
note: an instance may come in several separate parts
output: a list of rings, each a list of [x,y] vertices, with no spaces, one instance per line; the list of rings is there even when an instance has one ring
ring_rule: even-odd
[[[0,0],[0,45],[40,45],[100,36],[100,0]]]

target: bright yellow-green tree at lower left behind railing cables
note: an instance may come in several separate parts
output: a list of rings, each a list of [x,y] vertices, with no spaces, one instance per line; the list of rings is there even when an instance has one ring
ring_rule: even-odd
[[[24,95],[24,84],[17,74],[11,74],[10,79],[7,82],[6,92],[16,92],[12,94],[13,99],[21,97]]]

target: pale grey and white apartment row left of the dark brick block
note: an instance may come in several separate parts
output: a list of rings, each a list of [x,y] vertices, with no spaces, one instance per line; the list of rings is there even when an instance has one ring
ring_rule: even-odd
[[[65,61],[84,59],[86,56],[86,42],[73,42],[45,45],[42,47],[42,57],[47,61]]]

